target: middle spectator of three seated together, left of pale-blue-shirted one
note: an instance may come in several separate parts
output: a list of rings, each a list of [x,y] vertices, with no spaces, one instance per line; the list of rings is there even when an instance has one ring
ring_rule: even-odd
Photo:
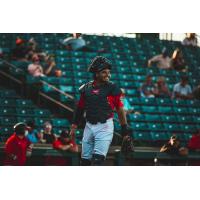
[[[165,82],[165,78],[163,76],[158,77],[157,83],[155,84],[154,94],[156,97],[171,97],[171,93],[167,87]]]

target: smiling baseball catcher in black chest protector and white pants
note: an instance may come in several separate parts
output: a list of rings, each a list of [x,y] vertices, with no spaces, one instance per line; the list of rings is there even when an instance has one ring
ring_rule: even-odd
[[[88,71],[93,80],[79,89],[80,99],[74,113],[71,134],[74,134],[83,113],[86,125],[82,140],[81,165],[102,165],[113,138],[113,110],[116,109],[123,136],[128,136],[127,120],[121,102],[121,90],[111,77],[112,64],[105,57],[95,57]]]

